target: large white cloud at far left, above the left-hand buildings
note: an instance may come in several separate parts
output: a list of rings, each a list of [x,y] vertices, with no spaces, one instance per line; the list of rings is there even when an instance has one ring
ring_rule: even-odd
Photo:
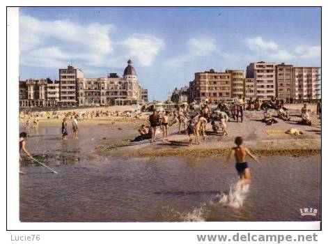
[[[110,24],[81,25],[63,20],[42,21],[20,15],[20,63],[51,67],[74,60],[99,65],[113,51],[109,39],[111,28]]]

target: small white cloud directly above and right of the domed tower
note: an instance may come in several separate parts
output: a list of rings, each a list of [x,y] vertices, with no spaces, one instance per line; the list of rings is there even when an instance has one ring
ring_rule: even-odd
[[[164,48],[164,41],[155,36],[134,34],[122,42],[128,55],[141,66],[151,66],[155,56]]]

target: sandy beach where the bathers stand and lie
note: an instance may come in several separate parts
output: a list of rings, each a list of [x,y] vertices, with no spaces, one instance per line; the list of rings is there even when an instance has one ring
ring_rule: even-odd
[[[178,125],[169,128],[169,140],[162,140],[162,130],[157,133],[157,142],[149,143],[149,140],[141,142],[130,142],[139,135],[138,128],[142,125],[148,125],[148,116],[141,116],[139,119],[125,118],[123,116],[93,117],[79,121],[82,129],[80,136],[84,137],[83,127],[92,127],[94,130],[101,130],[104,135],[98,140],[96,146],[97,152],[101,155],[120,155],[123,157],[159,157],[159,156],[177,156],[177,157],[221,157],[228,153],[234,146],[233,139],[237,136],[244,138],[245,146],[249,147],[256,155],[313,155],[321,153],[321,125],[318,115],[315,114],[315,105],[309,105],[309,112],[313,125],[299,125],[300,109],[302,105],[287,105],[291,120],[266,125],[263,119],[263,111],[245,111],[244,122],[228,122],[228,135],[214,134],[210,124],[207,126],[207,137],[201,141],[201,144],[192,144],[188,146],[189,138],[185,133],[178,134]],[[100,109],[100,108],[98,108]],[[130,107],[111,107],[110,111],[127,111]],[[95,111],[95,109],[70,110],[65,112]],[[107,109],[100,109],[107,111]],[[276,112],[272,112],[275,115]],[[40,118],[40,126],[61,127],[61,119]],[[20,119],[22,123],[26,119]],[[70,121],[68,121],[70,128]],[[183,127],[183,126],[182,126]],[[303,135],[288,135],[286,130],[296,128],[303,132]],[[31,129],[30,129],[31,130]],[[120,131],[120,138],[112,139],[110,132]],[[134,132],[133,132],[134,131]]]

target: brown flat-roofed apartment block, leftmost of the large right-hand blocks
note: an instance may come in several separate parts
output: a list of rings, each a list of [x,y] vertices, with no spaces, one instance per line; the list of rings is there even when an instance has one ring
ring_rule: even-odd
[[[195,79],[190,83],[191,98],[196,102],[204,102],[212,98],[213,102],[231,98],[231,73],[215,72],[213,69],[195,73]]]

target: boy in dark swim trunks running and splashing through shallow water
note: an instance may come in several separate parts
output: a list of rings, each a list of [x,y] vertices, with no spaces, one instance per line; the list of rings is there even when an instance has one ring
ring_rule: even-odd
[[[258,163],[260,163],[260,161],[258,161],[258,159],[253,154],[251,154],[248,148],[242,146],[242,137],[236,137],[235,144],[237,144],[237,146],[231,148],[231,151],[228,157],[226,158],[224,169],[226,169],[226,167],[228,166],[228,160],[230,160],[230,158],[232,158],[233,155],[235,155],[235,159],[236,159],[235,167],[240,177],[240,181],[238,182],[237,186],[242,188],[242,186],[251,183],[251,172],[249,171],[249,167],[247,165],[247,162],[245,161],[246,156],[249,155],[250,158],[252,158]]]

